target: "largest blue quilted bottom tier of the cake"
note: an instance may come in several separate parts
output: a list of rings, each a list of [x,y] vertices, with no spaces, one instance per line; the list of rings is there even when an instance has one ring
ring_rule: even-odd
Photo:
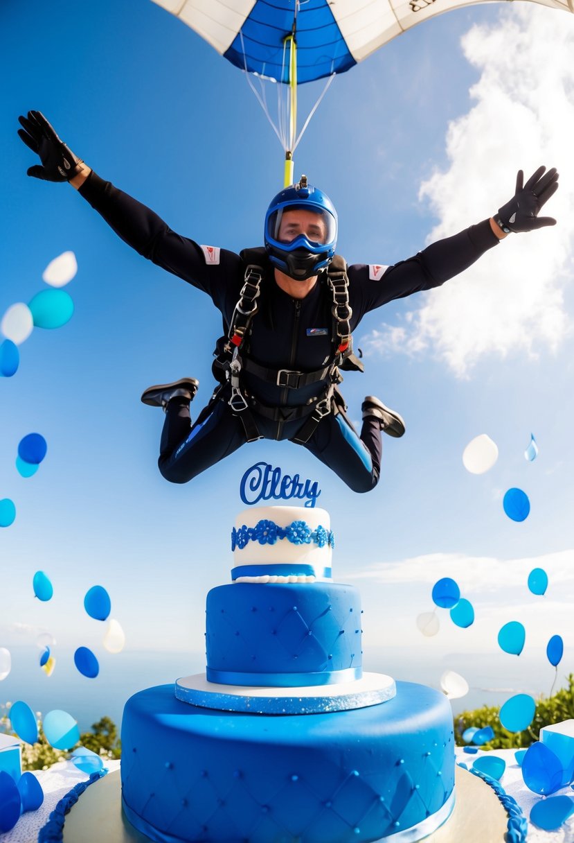
[[[189,706],[162,685],[127,701],[121,739],[126,816],[162,843],[412,843],[452,805],[452,712],[423,685],[285,716]]]

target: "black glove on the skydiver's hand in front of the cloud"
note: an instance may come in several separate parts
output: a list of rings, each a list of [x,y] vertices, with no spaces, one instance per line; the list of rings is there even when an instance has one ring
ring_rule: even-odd
[[[511,231],[534,231],[534,228],[556,224],[553,217],[538,216],[540,208],[558,190],[558,173],[555,167],[549,169],[547,173],[545,169],[545,167],[539,167],[524,187],[524,173],[521,169],[518,170],[515,196],[506,205],[502,205],[502,208],[498,209],[498,214],[493,217],[494,222],[505,234]]]

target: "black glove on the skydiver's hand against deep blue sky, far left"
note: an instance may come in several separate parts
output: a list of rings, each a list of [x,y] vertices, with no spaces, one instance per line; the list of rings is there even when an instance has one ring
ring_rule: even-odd
[[[40,155],[40,164],[28,169],[28,175],[45,181],[69,181],[82,171],[82,160],[60,140],[41,111],[29,111],[27,117],[19,117],[24,126],[19,136],[32,152]]]

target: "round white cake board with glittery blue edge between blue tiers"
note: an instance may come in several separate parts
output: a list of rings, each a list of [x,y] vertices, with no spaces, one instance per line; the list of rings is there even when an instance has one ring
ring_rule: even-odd
[[[385,674],[363,674],[361,679],[339,685],[306,685],[301,688],[218,685],[205,674],[194,674],[175,683],[178,700],[191,706],[250,714],[320,714],[378,706],[396,695],[395,680]]]

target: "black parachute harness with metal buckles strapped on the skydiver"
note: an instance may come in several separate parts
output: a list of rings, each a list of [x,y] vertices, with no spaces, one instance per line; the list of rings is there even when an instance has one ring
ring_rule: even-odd
[[[212,371],[220,381],[221,387],[215,390],[212,400],[225,400],[229,396],[227,403],[233,414],[241,418],[247,442],[263,438],[253,418],[253,411],[272,421],[294,421],[307,417],[291,440],[304,444],[311,438],[322,418],[330,412],[338,412],[339,407],[345,409],[343,396],[337,390],[337,384],[343,380],[339,368],[358,371],[364,369],[363,364],[353,355],[350,329],[353,310],[348,299],[347,264],[343,257],[335,255],[331,265],[327,267],[327,287],[332,294],[332,344],[336,349],[333,358],[323,368],[313,372],[299,372],[292,369],[266,368],[249,357],[243,357],[241,353],[247,336],[251,333],[252,319],[258,312],[260,285],[265,274],[263,267],[252,260],[260,260],[263,255],[263,249],[242,252],[242,257],[248,261],[244,283],[227,336],[222,336],[215,346]],[[300,389],[325,379],[328,379],[328,383],[322,395],[310,399],[305,405],[269,407],[252,395],[246,394],[242,386],[243,371],[285,389]]]

